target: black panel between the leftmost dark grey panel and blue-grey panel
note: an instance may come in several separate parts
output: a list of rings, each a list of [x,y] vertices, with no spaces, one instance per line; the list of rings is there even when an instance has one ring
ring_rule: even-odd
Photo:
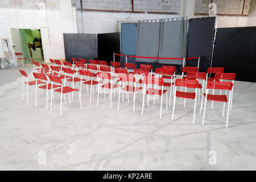
[[[98,60],[113,61],[113,52],[120,53],[120,34],[98,34]]]

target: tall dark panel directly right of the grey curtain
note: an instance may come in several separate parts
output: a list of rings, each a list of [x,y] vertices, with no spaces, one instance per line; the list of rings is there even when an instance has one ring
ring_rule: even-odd
[[[187,57],[200,56],[200,72],[207,72],[212,57],[215,17],[189,19]],[[187,60],[187,67],[197,67],[197,60]]]

